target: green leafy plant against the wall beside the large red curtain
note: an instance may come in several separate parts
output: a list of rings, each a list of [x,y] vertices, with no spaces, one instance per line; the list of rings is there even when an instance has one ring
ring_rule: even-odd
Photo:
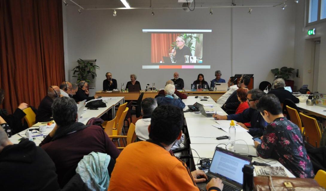
[[[95,65],[91,61],[83,61],[82,59],[79,59],[77,62],[78,65],[71,70],[74,71],[72,77],[77,77],[77,83],[82,80],[87,83],[90,83],[90,77],[94,79],[96,76],[96,69],[99,69],[100,67]]]

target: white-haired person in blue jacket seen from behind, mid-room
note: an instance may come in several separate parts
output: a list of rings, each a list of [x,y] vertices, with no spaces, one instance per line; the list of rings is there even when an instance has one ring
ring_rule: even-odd
[[[157,105],[165,105],[165,104],[171,104],[174,106],[177,106],[181,109],[185,108],[185,103],[182,102],[182,100],[179,97],[176,97],[176,99],[172,96],[174,94],[175,88],[174,85],[168,84],[164,88],[165,97],[157,97],[155,98],[157,101]]]

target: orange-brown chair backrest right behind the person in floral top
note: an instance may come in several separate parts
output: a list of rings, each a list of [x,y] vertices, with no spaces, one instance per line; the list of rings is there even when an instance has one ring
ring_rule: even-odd
[[[300,112],[301,120],[304,125],[305,137],[307,138],[307,143],[316,148],[319,147],[319,142],[321,139],[321,132],[317,123],[317,120],[313,117],[304,115]]]

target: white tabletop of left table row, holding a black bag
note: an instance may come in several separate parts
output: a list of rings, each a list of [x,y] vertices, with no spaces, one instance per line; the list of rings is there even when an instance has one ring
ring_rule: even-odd
[[[100,98],[100,99],[102,99],[102,98]],[[112,97],[111,99],[110,98],[109,99],[104,98],[102,100],[103,100],[103,102],[106,102],[106,107],[100,107],[100,108],[98,108],[98,110],[89,110],[89,109],[87,109],[85,107],[84,112],[82,113],[81,117],[79,117],[79,119],[78,119],[78,122],[81,122],[81,123],[86,125],[86,123],[88,122],[88,120],[90,118],[92,118],[92,117],[100,117],[104,113],[109,111],[110,109],[113,110],[113,112],[112,112],[112,115],[113,115],[113,113],[115,113],[115,109],[114,109],[115,105],[125,102],[124,97]],[[90,100],[90,101],[94,101],[94,100]],[[40,124],[40,123],[37,123],[37,124]],[[35,124],[34,126],[30,127],[27,130],[39,128],[39,126],[37,124]],[[44,125],[46,125],[46,123]],[[33,133],[33,135],[41,135],[41,134],[43,134],[44,136],[46,136],[52,131],[54,126],[55,126],[55,123],[53,123],[51,126],[48,126],[47,130],[44,131],[44,132],[39,132],[37,130],[33,130],[32,133]],[[14,134],[13,136],[11,136],[9,138],[9,140],[14,144],[18,144],[20,142],[21,138],[26,138],[25,133],[26,133],[27,130],[23,130],[23,131],[21,131],[21,132],[19,132],[17,134]],[[36,136],[36,137],[34,137],[33,141],[35,142],[36,145],[39,145],[42,142],[43,139],[44,139],[43,136]]]

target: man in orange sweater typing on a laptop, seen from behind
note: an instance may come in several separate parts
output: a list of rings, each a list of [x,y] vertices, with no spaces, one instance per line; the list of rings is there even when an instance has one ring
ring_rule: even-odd
[[[173,105],[161,105],[153,111],[151,118],[149,139],[129,144],[117,158],[109,190],[198,191],[196,183],[205,182],[206,174],[190,172],[184,162],[169,153],[182,135],[182,110]],[[213,178],[206,189],[221,191],[223,183]]]

